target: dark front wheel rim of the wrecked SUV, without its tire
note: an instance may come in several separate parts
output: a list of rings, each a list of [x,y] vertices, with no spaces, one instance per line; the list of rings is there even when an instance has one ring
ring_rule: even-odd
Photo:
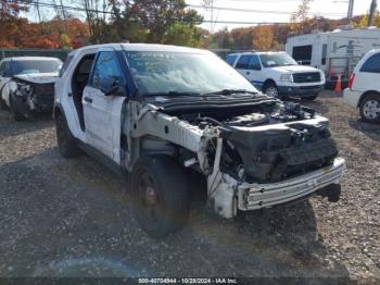
[[[157,220],[160,213],[160,197],[152,175],[148,171],[141,170],[137,182],[138,205],[141,214],[151,221]]]

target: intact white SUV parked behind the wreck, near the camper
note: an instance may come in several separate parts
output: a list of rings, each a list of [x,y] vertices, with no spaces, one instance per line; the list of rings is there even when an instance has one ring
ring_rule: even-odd
[[[295,96],[314,100],[325,86],[320,70],[299,65],[286,52],[242,52],[226,61],[255,87],[273,97]]]

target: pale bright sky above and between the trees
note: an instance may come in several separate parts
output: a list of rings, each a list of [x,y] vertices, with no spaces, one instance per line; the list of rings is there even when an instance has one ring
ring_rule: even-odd
[[[206,0],[212,1],[212,0]],[[228,8],[236,11],[226,11],[214,9],[213,14],[206,11],[203,5],[203,0],[186,0],[191,8],[195,9],[205,21],[218,22],[251,22],[251,23],[284,23],[289,22],[291,13],[296,11],[301,0],[213,0],[215,8]],[[52,0],[43,0],[40,2],[52,2]],[[72,0],[64,0],[64,3],[72,5]],[[78,1],[77,1],[78,2]],[[354,15],[366,14],[369,10],[371,0],[355,0]],[[380,5],[380,3],[379,3]],[[309,15],[319,15],[329,18],[346,17],[349,9],[349,0],[314,0],[312,3]],[[51,18],[54,15],[52,10],[42,11],[45,20]],[[72,12],[75,16],[84,20],[83,15]],[[35,9],[28,12],[27,17],[31,21],[37,21]],[[224,27],[232,29],[240,26],[252,26],[253,24],[241,23],[204,23],[203,28],[211,32],[217,32]]]

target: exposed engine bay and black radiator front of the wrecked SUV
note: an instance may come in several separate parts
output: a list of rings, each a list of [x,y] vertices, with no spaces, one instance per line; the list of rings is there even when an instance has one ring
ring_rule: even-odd
[[[330,138],[328,122],[302,122],[315,119],[315,110],[280,102],[254,109],[252,113],[235,109],[179,117],[201,129],[220,129],[225,139],[220,169],[236,179],[279,182],[333,163],[338,149]]]

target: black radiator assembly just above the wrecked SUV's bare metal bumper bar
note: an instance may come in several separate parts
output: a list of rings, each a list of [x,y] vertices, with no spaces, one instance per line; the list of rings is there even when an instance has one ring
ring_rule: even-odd
[[[314,119],[267,127],[231,127],[226,135],[239,152],[244,177],[276,183],[330,166],[338,156],[328,122]]]

